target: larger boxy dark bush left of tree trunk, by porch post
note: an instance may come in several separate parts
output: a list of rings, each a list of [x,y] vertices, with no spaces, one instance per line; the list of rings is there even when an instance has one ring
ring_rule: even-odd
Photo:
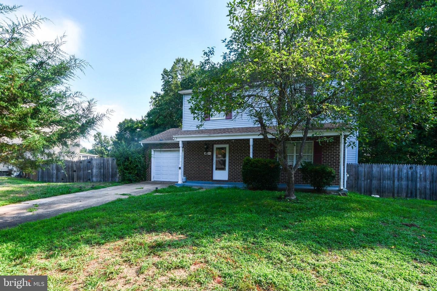
[[[252,190],[276,190],[281,168],[271,159],[245,157],[241,175],[247,188]]]

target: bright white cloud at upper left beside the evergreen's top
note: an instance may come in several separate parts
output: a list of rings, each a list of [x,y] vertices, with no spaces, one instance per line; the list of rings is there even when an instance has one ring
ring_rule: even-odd
[[[28,16],[31,13],[24,13]],[[66,35],[62,45],[62,50],[70,55],[77,55],[80,53],[82,45],[82,29],[80,25],[68,18],[51,19],[51,21],[43,22],[39,28],[34,30],[34,35],[28,37],[31,43],[38,41],[54,41],[56,38]]]

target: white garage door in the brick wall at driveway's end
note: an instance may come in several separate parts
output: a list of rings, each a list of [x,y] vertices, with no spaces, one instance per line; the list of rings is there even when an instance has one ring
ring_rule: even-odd
[[[179,150],[155,150],[154,152],[153,180],[177,182],[179,180]]]

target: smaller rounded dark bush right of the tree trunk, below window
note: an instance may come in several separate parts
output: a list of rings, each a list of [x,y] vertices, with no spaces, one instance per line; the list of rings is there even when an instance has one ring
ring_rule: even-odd
[[[302,163],[300,169],[302,171],[303,180],[309,183],[309,185],[318,192],[326,189],[335,179],[334,169],[324,164]]]

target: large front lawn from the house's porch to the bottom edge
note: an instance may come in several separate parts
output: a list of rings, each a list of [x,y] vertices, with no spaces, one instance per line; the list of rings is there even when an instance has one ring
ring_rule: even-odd
[[[168,187],[24,223],[0,230],[0,274],[53,291],[436,290],[437,202],[279,195]]]

